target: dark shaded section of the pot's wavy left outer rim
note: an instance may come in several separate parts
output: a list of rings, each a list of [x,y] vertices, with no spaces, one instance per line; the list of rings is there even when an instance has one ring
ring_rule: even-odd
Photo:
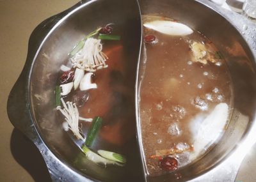
[[[56,25],[68,12],[74,10],[82,3],[77,3],[71,8],[50,17],[49,19],[41,22],[31,33],[29,37],[28,55],[24,68],[20,73],[19,78],[15,82],[7,102],[7,114],[11,123],[15,128],[19,129],[29,139],[34,140],[36,130],[33,121],[31,120],[30,105],[29,105],[29,71],[33,63],[36,51],[40,47],[45,36],[51,31],[52,27]]]

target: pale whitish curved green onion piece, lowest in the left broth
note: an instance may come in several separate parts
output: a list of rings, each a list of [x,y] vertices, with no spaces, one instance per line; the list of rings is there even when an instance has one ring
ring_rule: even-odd
[[[91,160],[94,163],[103,163],[104,165],[114,164],[114,165],[123,166],[122,163],[118,163],[118,162],[115,162],[115,161],[112,161],[112,160],[108,160],[107,158],[104,158],[100,155],[97,155],[97,153],[94,153],[89,148],[87,148],[85,145],[83,146],[82,149],[83,149],[84,154],[88,158],[88,160]]]

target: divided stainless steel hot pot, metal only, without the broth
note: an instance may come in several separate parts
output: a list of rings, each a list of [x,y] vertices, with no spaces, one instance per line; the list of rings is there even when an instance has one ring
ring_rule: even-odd
[[[114,5],[109,6],[110,3]],[[182,175],[179,181],[234,181],[246,151],[255,143],[255,25],[204,0],[141,0],[139,4],[141,13],[159,13],[200,31],[225,54],[235,95],[230,125],[220,142],[204,158],[179,170]],[[121,24],[125,30],[125,55],[127,60],[132,60],[130,66],[136,70],[141,45],[140,11],[136,1],[131,4],[115,0],[81,1],[36,27],[29,40],[26,64],[10,93],[10,121],[35,143],[53,181],[143,181],[145,173],[141,167],[145,170],[145,163],[142,160],[141,164],[140,158],[136,158],[141,148],[137,147],[135,137],[127,148],[132,154],[129,156],[131,163],[121,169],[102,169],[86,158],[74,163],[81,151],[55,121],[52,100],[58,68],[67,60],[67,52],[77,40],[109,20]],[[135,85],[135,74],[131,79]],[[138,120],[141,144],[139,124]],[[174,172],[158,177],[145,174],[144,179],[176,180]]]

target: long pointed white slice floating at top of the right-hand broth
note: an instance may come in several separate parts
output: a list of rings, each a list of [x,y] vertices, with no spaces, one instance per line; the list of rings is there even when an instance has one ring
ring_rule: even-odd
[[[185,36],[193,33],[193,30],[188,26],[167,20],[155,20],[152,22],[146,22],[143,24],[143,26],[172,36]]]

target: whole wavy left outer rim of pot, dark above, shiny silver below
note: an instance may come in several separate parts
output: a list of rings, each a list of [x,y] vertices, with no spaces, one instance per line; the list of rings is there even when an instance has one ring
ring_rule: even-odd
[[[24,68],[8,96],[8,118],[15,128],[20,130],[20,132],[26,135],[26,137],[32,140],[36,145],[49,169],[52,181],[84,181],[86,179],[79,174],[74,174],[73,171],[63,165],[63,163],[60,162],[60,160],[58,160],[58,158],[56,158],[51,151],[49,151],[36,132],[29,105],[29,72],[31,70],[36,51],[39,49],[45,36],[49,33],[49,31],[51,31],[52,27],[54,27],[59,20],[61,20],[70,11],[76,9],[78,6],[81,6],[83,3],[85,3],[85,1],[79,1],[79,3],[75,4],[71,8],[68,8],[63,12],[44,20],[38,26],[36,26],[29,38],[28,55]],[[58,176],[61,176],[61,178]],[[72,179],[69,179],[70,177],[72,177]],[[88,179],[86,181],[90,180]]]

